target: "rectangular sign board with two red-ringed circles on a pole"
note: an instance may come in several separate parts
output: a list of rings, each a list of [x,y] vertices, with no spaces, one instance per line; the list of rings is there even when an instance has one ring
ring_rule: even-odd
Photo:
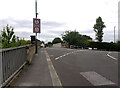
[[[33,33],[40,33],[40,19],[33,18]]]

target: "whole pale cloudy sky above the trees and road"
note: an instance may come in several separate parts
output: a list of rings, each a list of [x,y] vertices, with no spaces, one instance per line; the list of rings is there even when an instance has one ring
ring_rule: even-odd
[[[119,0],[37,0],[41,33],[37,38],[49,42],[67,30],[78,31],[95,40],[93,26],[96,18],[102,17],[106,28],[103,41],[118,40]],[[35,0],[0,0],[0,30],[7,24],[14,28],[15,35],[26,40],[33,33]]]

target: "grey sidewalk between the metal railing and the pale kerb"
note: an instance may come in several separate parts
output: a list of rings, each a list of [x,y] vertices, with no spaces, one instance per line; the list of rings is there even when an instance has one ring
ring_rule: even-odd
[[[44,49],[38,49],[31,65],[15,80],[12,86],[52,86]]]

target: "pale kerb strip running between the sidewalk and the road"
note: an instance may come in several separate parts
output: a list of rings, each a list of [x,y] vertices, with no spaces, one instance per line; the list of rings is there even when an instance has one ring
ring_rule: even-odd
[[[63,88],[62,87],[62,83],[55,71],[55,68],[52,64],[52,61],[47,53],[47,51],[45,50],[45,55],[46,55],[46,58],[47,58],[47,62],[48,62],[48,67],[49,67],[49,70],[50,70],[50,75],[51,75],[51,79],[52,79],[52,83],[53,83],[53,86],[60,86],[60,88]]]

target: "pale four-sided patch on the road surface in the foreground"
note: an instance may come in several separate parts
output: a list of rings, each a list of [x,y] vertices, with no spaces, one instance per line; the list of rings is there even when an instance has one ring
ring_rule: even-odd
[[[105,77],[99,75],[98,73],[91,72],[80,72],[80,74],[85,77],[92,85],[101,86],[101,85],[113,85],[114,82],[106,79]]]

